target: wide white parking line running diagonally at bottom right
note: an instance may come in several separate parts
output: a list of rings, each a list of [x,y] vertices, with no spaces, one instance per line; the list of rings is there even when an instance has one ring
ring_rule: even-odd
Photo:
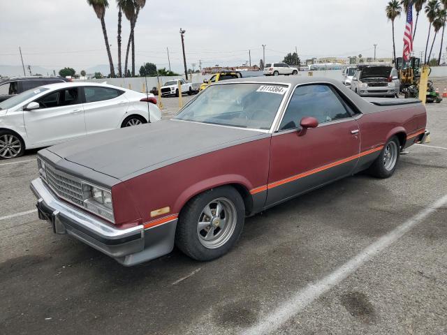
[[[425,209],[410,218],[408,221],[402,223],[388,234],[376,240],[373,244],[369,245],[362,252],[358,253],[358,255],[351,258],[351,260],[344,263],[344,265],[333,271],[331,274],[328,274],[316,283],[308,284],[305,288],[302,288],[302,290],[296,292],[290,299],[284,301],[284,304],[279,306],[279,308],[268,315],[262,316],[260,322],[253,327],[245,329],[240,334],[259,335],[274,332],[288,319],[300,313],[300,311],[302,311],[306,306],[312,304],[312,302],[318,299],[318,297],[323,295],[325,292],[328,292],[335,285],[338,285],[349,275],[353,274],[353,272],[356,271],[361,265],[365,264],[365,262],[369,261],[375,255],[390,246],[390,244],[393,244],[397,241],[397,239],[400,239],[400,237],[411,230],[411,228],[423,221],[424,218],[445,204],[447,204],[447,195],[444,195],[444,197],[440,198],[433,204],[425,207]]]

